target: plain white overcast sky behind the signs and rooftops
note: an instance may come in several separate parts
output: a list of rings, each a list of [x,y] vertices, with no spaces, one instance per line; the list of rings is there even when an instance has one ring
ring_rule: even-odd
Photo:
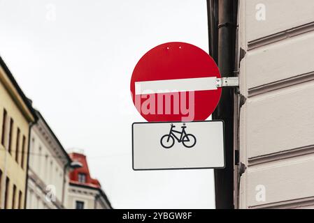
[[[114,208],[215,207],[212,170],[131,169],[131,73],[171,41],[208,52],[206,0],[0,0],[1,57]]]

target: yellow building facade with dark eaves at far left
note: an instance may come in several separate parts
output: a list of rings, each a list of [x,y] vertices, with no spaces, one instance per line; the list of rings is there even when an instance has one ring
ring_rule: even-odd
[[[0,57],[0,208],[24,208],[31,102]]]

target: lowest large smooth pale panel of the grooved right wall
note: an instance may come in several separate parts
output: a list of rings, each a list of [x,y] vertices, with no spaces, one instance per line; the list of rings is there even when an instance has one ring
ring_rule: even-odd
[[[248,207],[266,203],[276,206],[283,201],[296,203],[296,199],[313,197],[313,169],[313,154],[251,167],[247,176]],[[261,185],[265,188],[264,201],[258,194],[262,192]]]

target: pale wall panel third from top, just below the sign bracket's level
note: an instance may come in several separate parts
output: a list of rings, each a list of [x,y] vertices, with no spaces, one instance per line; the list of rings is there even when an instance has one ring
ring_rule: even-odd
[[[314,145],[314,82],[247,101],[248,157]]]

